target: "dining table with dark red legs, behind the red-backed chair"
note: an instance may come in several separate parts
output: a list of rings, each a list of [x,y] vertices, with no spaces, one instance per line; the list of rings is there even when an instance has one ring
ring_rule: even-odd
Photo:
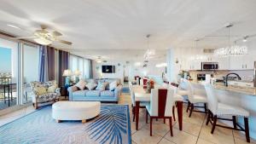
[[[135,118],[136,118],[136,130],[138,130],[139,123],[139,109],[140,102],[150,102],[150,93],[147,92],[146,89],[143,89],[142,86],[135,85],[133,87],[134,95],[135,95]],[[183,130],[183,100],[175,100],[177,106],[177,119],[178,119],[178,127],[179,130]]]

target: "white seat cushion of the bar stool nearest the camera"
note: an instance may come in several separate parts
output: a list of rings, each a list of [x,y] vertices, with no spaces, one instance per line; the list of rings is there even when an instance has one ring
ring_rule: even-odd
[[[217,115],[231,115],[231,116],[241,116],[249,117],[249,112],[241,107],[234,107],[224,103],[218,103]]]

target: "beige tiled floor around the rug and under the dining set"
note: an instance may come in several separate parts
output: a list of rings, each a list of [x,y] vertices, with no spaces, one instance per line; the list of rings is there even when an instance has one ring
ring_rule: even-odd
[[[130,95],[123,94],[119,104],[129,104],[131,106]],[[0,125],[7,124],[16,118],[20,118],[27,113],[34,112],[33,107],[26,107],[19,111],[9,113],[0,117]],[[130,112],[131,118],[132,114]],[[177,113],[176,113],[177,116]],[[173,123],[173,137],[170,135],[168,121],[163,124],[162,120],[153,122],[153,136],[149,136],[149,124],[145,123],[145,111],[140,111],[139,130],[135,129],[135,122],[131,119],[131,137],[133,144],[243,144],[245,136],[233,130],[218,128],[212,135],[211,124],[206,126],[206,116],[203,113],[194,112],[192,118],[183,110],[183,131],[178,130],[177,121]],[[251,139],[251,143],[256,141]]]

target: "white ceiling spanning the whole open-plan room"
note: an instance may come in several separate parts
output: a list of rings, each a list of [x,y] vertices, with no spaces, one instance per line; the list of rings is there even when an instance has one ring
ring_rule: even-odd
[[[73,53],[131,58],[133,49],[147,49],[147,34],[160,55],[170,47],[189,48],[197,38],[203,47],[223,45],[227,23],[235,25],[232,40],[256,34],[255,8],[255,0],[1,0],[0,30],[27,37],[44,24],[73,42]]]

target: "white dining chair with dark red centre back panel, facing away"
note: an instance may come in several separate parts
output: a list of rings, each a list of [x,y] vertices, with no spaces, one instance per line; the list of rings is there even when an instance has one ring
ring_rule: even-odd
[[[146,105],[146,123],[148,123],[148,114],[150,117],[150,136],[152,136],[153,118],[169,119],[170,131],[172,133],[172,107],[173,107],[173,89],[151,89],[150,103]]]

